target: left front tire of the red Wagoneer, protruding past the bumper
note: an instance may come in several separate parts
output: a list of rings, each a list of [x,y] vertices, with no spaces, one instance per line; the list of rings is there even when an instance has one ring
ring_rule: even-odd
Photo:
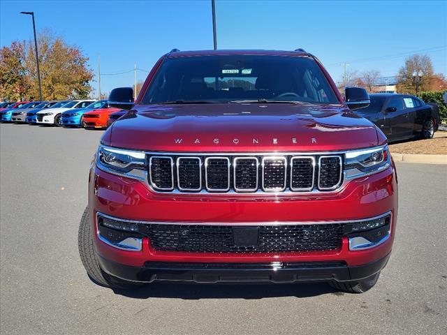
[[[115,288],[119,290],[129,290],[138,288],[144,284],[123,281],[122,279],[106,274],[99,266],[98,256],[94,251],[93,237],[91,236],[89,223],[89,207],[82,214],[78,232],[78,249],[82,265],[84,265],[87,274],[95,283],[106,288]]]

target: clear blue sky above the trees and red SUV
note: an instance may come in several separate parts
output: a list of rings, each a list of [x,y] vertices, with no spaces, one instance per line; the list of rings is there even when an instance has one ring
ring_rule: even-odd
[[[211,2],[0,1],[0,45],[51,29],[78,45],[97,72],[150,70],[179,50],[212,49]],[[334,80],[350,69],[391,76],[405,57],[425,50],[436,73],[447,75],[447,1],[216,1],[219,49],[302,47],[316,55]],[[437,49],[435,49],[437,48]],[[147,73],[138,71],[138,80]],[[133,72],[102,75],[101,89],[131,86]],[[97,87],[94,82],[93,87]]]

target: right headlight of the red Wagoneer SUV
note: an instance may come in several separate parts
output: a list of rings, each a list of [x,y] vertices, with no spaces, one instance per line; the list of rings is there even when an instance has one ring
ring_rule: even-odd
[[[390,166],[388,146],[348,151],[344,154],[344,170],[348,179],[380,172]]]

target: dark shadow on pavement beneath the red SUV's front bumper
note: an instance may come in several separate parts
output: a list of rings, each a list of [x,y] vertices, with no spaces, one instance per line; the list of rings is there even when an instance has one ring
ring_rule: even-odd
[[[272,297],[316,297],[332,293],[343,295],[327,283],[303,284],[191,284],[152,283],[136,290],[114,290],[115,294],[134,299],[263,299]]]

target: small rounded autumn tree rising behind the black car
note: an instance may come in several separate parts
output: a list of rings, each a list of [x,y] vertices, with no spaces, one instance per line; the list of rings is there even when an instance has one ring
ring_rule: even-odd
[[[433,77],[432,59],[426,54],[413,54],[397,73],[397,90],[407,94],[430,91]]]

